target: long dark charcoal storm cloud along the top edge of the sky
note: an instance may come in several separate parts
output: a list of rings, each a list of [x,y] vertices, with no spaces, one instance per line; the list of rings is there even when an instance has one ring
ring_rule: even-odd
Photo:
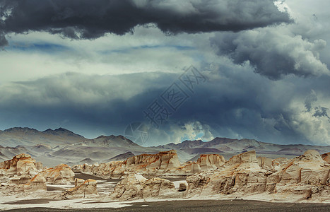
[[[3,0],[0,18],[4,33],[46,31],[72,39],[123,35],[149,23],[165,33],[203,33],[291,22],[273,0]]]

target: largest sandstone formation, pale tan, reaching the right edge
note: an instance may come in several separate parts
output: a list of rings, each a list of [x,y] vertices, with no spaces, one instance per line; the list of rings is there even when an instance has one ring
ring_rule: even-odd
[[[243,197],[264,193],[278,199],[289,195],[295,201],[329,201],[329,164],[317,151],[306,151],[279,169],[274,165],[285,161],[257,160],[254,151],[235,155],[218,170],[187,177],[187,196],[230,194]]]

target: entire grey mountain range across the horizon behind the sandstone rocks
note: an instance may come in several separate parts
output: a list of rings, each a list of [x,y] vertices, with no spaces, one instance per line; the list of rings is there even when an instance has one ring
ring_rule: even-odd
[[[38,131],[27,127],[15,127],[0,131],[0,160],[9,160],[19,153],[28,153],[47,166],[59,163],[81,164],[124,160],[131,155],[158,153],[171,149],[177,150],[181,163],[196,160],[203,153],[218,153],[229,159],[237,153],[252,150],[268,158],[293,158],[302,155],[308,149],[317,150],[319,153],[330,152],[330,146],[280,145],[254,139],[215,138],[211,141],[182,141],[182,143],[144,147],[121,135],[86,139],[63,128]]]

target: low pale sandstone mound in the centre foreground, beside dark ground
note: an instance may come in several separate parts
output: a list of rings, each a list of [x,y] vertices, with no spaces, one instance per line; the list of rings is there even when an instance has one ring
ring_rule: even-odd
[[[167,179],[153,177],[146,179],[139,173],[130,174],[116,187],[110,195],[112,199],[146,199],[150,197],[168,198],[179,197],[182,193],[177,192],[173,182]]]

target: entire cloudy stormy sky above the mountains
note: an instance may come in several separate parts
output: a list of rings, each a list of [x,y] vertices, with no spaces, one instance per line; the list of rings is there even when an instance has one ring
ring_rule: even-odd
[[[328,8],[0,0],[0,129],[330,145]]]

